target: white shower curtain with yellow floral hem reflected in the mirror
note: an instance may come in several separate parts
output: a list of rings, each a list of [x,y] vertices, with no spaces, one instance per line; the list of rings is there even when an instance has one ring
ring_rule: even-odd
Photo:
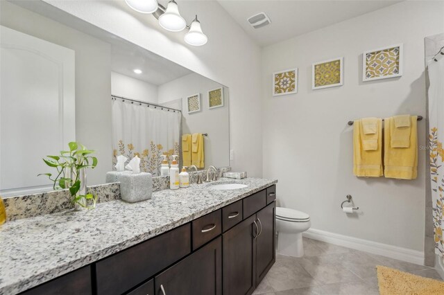
[[[112,100],[113,167],[117,156],[140,158],[140,170],[160,176],[161,155],[180,155],[180,111]]]

